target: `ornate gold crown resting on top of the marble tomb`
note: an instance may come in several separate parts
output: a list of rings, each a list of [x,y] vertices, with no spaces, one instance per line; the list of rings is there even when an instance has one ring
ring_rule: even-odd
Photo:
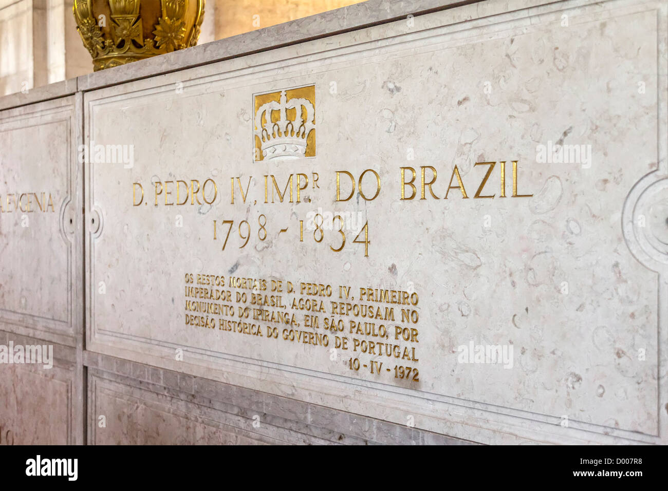
[[[197,44],[204,0],[74,0],[95,71]]]

